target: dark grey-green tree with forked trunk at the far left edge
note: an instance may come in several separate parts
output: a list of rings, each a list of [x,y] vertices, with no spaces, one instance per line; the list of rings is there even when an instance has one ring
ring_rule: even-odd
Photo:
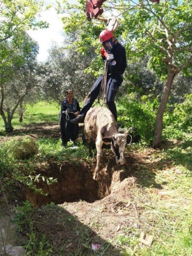
[[[7,51],[12,53],[9,56],[10,70],[4,70],[4,72],[1,70],[0,114],[7,132],[13,131],[11,121],[17,107],[19,104],[22,106],[26,95],[37,84],[35,67],[39,49],[38,44],[25,33],[19,49],[13,48],[11,43],[7,41],[1,43],[1,45],[6,44]]]

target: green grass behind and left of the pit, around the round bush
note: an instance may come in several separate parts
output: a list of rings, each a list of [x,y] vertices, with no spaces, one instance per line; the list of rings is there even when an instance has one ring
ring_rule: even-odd
[[[71,147],[73,142],[68,142],[67,146],[63,148],[60,139],[44,137],[38,139],[38,152],[34,156],[29,159],[19,159],[15,152],[22,149],[22,143],[25,143],[27,138],[28,136],[23,136],[19,143],[13,138],[7,143],[1,144],[0,179],[4,188],[14,184],[14,182],[21,181],[26,186],[36,190],[33,181],[40,178],[36,173],[38,163],[54,160],[58,163],[70,161],[78,165],[80,162],[91,161],[88,149],[82,145],[82,142],[76,142],[77,149]],[[93,154],[95,155],[95,150],[93,150]],[[50,182],[50,180],[46,179],[46,182]],[[42,191],[37,192],[41,193]]]

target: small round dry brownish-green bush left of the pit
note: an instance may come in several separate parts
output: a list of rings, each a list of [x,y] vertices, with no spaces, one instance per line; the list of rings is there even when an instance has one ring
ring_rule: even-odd
[[[35,139],[25,136],[14,140],[14,143],[10,144],[9,152],[18,160],[29,159],[38,153],[38,143]]]

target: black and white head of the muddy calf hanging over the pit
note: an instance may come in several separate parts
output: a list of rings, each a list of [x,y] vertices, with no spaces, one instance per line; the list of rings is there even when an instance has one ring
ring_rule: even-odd
[[[123,152],[127,144],[127,137],[125,134],[117,133],[110,137],[104,137],[103,142],[111,143],[111,149],[116,157],[117,164],[125,164]]]

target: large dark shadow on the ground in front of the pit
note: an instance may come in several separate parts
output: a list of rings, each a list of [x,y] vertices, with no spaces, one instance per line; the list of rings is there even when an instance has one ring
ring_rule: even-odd
[[[53,246],[52,255],[87,256],[101,255],[102,253],[102,255],[110,256],[120,255],[120,251],[117,248],[107,240],[102,239],[90,227],[83,224],[83,221],[86,223],[91,222],[91,216],[82,216],[81,222],[64,207],[50,203],[34,209],[31,215],[33,227],[38,232],[38,235],[46,235],[49,243]],[[102,223],[100,224],[102,226]],[[103,230],[103,232],[107,233],[106,230]],[[94,251],[91,248],[92,243],[99,244],[101,247]]]

